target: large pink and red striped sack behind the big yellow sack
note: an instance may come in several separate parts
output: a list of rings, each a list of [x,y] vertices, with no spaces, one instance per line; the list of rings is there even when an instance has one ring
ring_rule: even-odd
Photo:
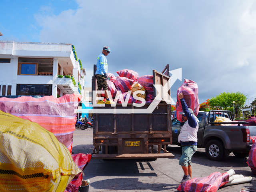
[[[75,130],[77,104],[75,94],[60,98],[44,96],[33,98],[22,96],[14,99],[0,98],[0,110],[22,119],[38,123],[52,132],[59,142],[72,150],[72,136]],[[75,106],[76,104],[76,106]]]

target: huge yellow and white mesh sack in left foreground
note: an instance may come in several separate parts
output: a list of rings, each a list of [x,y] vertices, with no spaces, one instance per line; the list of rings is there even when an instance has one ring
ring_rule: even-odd
[[[62,192],[80,172],[53,133],[0,111],[1,192]]]

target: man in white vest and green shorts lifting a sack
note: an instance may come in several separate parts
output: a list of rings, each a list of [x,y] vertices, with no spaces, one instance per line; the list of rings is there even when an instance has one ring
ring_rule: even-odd
[[[191,158],[197,150],[197,131],[199,127],[199,120],[194,115],[192,109],[188,108],[182,92],[178,97],[183,110],[183,112],[180,112],[180,114],[182,114],[183,122],[180,124],[181,130],[178,136],[178,141],[182,146],[182,156],[180,157],[179,164],[184,171],[184,177],[181,181],[181,183],[183,183],[192,178]]]

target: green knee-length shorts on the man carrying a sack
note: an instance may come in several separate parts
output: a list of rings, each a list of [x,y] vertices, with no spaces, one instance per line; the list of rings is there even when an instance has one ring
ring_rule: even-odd
[[[191,158],[196,151],[196,145],[182,145],[182,156],[180,157],[179,165],[184,167],[191,166]]]

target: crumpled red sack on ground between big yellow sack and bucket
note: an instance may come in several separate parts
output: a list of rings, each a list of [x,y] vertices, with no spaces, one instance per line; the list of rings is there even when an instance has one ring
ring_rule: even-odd
[[[72,159],[74,160],[75,164],[78,166],[80,170],[84,170],[87,164],[90,162],[92,155],[91,154],[72,154]],[[82,184],[83,175],[82,172],[77,174],[73,180],[68,184],[66,190],[64,192],[78,192],[80,185]]]

